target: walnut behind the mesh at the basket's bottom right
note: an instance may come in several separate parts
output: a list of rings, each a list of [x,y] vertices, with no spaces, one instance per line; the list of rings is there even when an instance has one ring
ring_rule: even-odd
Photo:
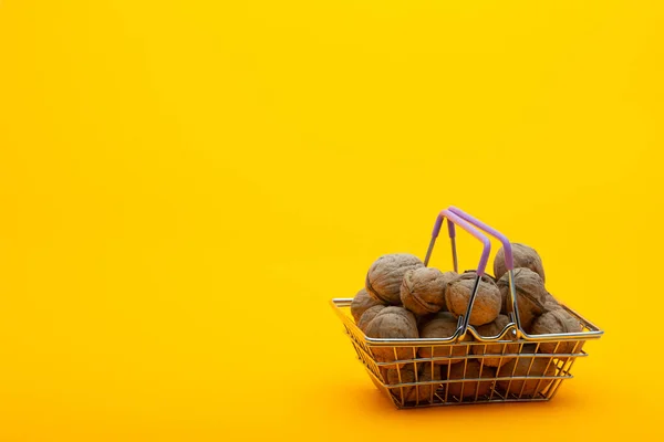
[[[535,359],[535,361],[532,361],[532,367],[530,367],[530,361],[532,359]],[[553,361],[549,364],[549,360],[550,359],[547,358],[519,358],[511,360],[509,364],[506,364],[498,369],[498,377],[511,377],[512,370],[515,370],[513,376],[554,376],[556,366]],[[515,365],[517,366],[516,369]],[[548,369],[547,366],[549,366]],[[528,372],[528,367],[530,367],[530,372]],[[523,396],[535,396],[542,392],[552,381],[553,379],[530,379],[512,380],[511,383],[509,383],[509,380],[499,380],[497,383],[500,389],[508,393],[519,394],[521,388],[523,388]],[[507,390],[508,386],[509,391]]]

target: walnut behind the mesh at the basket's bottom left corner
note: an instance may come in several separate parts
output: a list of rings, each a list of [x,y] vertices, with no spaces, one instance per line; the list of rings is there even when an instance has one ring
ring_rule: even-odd
[[[397,383],[412,383],[412,382],[428,382],[432,380],[440,379],[440,366],[434,366],[432,371],[432,364],[421,362],[417,364],[417,377],[415,377],[414,364],[407,364],[402,368],[391,368],[387,370],[387,385]],[[436,391],[439,385],[428,383],[417,387],[401,387],[391,388],[396,397],[404,402],[430,402],[433,393]]]

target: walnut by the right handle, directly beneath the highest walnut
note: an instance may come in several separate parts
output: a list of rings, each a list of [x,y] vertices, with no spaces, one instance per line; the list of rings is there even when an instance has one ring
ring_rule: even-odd
[[[509,274],[506,273],[498,280],[498,288],[504,303],[502,309],[508,312]],[[529,332],[532,320],[544,313],[544,303],[549,293],[544,288],[544,282],[540,275],[526,267],[515,270],[515,290],[521,327]]]

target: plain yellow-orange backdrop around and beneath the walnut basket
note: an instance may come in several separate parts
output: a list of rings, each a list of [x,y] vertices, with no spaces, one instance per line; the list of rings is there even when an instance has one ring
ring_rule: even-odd
[[[2,0],[0,439],[661,438],[663,18]],[[355,361],[328,301],[448,204],[605,328],[554,401],[396,411]]]

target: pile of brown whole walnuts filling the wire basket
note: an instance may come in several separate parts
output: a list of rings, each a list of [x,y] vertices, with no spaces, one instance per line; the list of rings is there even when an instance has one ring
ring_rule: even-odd
[[[564,311],[558,302],[547,292],[544,287],[544,270],[538,253],[528,245],[512,243],[512,254],[515,263],[515,287],[517,293],[519,317],[521,326],[528,334],[546,335],[556,333],[574,333],[581,332],[582,326]],[[505,267],[505,254],[500,249],[494,261],[494,273],[496,277],[484,275],[479,284],[473,312],[470,313],[469,324],[475,327],[480,336],[496,336],[509,323],[508,299],[509,299],[509,282],[508,274]],[[370,267],[366,274],[365,287],[362,288],[351,303],[351,314],[355,319],[359,328],[369,337],[374,338],[446,338],[450,337],[457,328],[457,318],[466,313],[470,293],[475,284],[477,273],[469,271],[463,274],[455,272],[440,272],[437,269],[425,267],[419,259],[405,253],[396,253],[381,256]],[[473,340],[470,334],[466,337]],[[574,341],[561,343],[556,348],[556,344],[541,344],[540,351],[551,354],[571,352]],[[505,350],[507,354],[518,351],[519,345],[508,345]],[[513,348],[511,348],[513,347]],[[509,376],[515,364],[517,369],[515,372],[527,370],[530,366],[530,360],[526,362],[526,358],[520,358],[518,361],[513,358],[501,358],[499,355],[504,349],[502,344],[473,346],[471,351],[475,354],[496,354],[497,357],[484,357],[484,368],[481,376],[495,377],[496,370],[500,371],[499,376]],[[413,348],[396,347],[396,355],[392,347],[381,348],[373,347],[373,352],[380,362],[393,362],[395,357],[398,360],[412,359]],[[438,354],[440,351],[440,354]],[[444,356],[461,356],[465,355],[465,348],[457,347],[437,347],[434,350],[434,357]],[[422,347],[418,350],[418,356],[422,358],[432,357],[432,347]],[[446,365],[456,365],[464,359],[442,359],[435,361],[436,367]],[[531,376],[542,376],[547,370],[547,376],[551,376],[553,367],[547,364],[540,367],[539,361],[547,360],[536,358],[536,362],[530,369]],[[477,367],[475,367],[477,365]],[[403,376],[408,376],[407,372],[414,371],[413,364],[400,366]],[[425,365],[427,366],[427,365]],[[463,365],[461,365],[463,366]],[[468,366],[471,366],[473,371],[479,372],[479,359],[468,360]],[[384,366],[386,368],[386,380],[388,383],[396,379],[396,365]],[[453,366],[450,376],[460,378],[463,372],[457,367]],[[541,368],[541,370],[540,370]],[[424,368],[421,368],[424,369]],[[505,370],[505,371],[504,371]],[[541,372],[539,372],[539,371]],[[446,370],[442,370],[447,372]],[[403,375],[406,372],[406,375]],[[430,367],[425,373],[425,377],[437,376],[439,370],[430,372]],[[412,373],[414,377],[414,372]],[[525,372],[522,373],[525,375]],[[429,378],[430,379],[430,378]],[[522,381],[521,381],[522,382]],[[529,393],[529,383],[527,381],[525,388]],[[483,391],[486,389],[484,383],[479,382],[477,389]],[[538,382],[535,382],[536,385]],[[450,386],[460,387],[460,383],[452,383]],[[522,385],[512,382],[515,388],[520,390]],[[539,391],[543,390],[548,382],[541,382]],[[531,386],[532,389],[536,386]],[[450,387],[452,388],[452,387]],[[510,390],[512,388],[510,387]],[[421,389],[421,394],[428,398],[428,392]],[[464,392],[475,396],[473,388]],[[414,394],[414,391],[411,392]],[[530,392],[535,393],[535,391]],[[407,393],[406,393],[407,394]],[[408,399],[411,400],[411,399]],[[414,399],[412,399],[414,400]],[[422,398],[421,398],[422,400]]]

